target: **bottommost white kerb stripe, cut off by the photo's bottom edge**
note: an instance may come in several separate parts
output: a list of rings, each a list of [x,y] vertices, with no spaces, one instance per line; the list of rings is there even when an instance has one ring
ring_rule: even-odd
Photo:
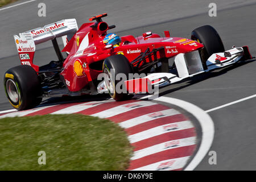
[[[162,160],[157,163],[149,164],[147,166],[139,167],[137,169],[133,169],[131,171],[170,171],[174,169],[180,169],[187,164],[188,159],[190,156],[186,156],[183,158],[176,158],[176,159],[169,159],[169,160]],[[171,175],[170,175],[171,177]]]

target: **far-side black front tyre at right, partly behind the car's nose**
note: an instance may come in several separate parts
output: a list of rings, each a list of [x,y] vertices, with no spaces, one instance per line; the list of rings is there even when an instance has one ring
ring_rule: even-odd
[[[217,52],[224,52],[225,48],[218,32],[209,25],[196,28],[192,31],[191,39],[204,44],[199,50],[204,69],[207,69],[207,59]]]

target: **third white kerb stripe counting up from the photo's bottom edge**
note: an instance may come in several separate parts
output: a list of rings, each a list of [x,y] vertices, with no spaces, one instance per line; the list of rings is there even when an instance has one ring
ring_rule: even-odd
[[[192,125],[191,121],[180,121],[180,122],[176,122],[176,123],[169,123],[166,125],[156,126],[152,129],[144,130],[144,131],[141,131],[141,132],[133,134],[133,135],[129,135],[128,139],[129,139],[130,143],[135,143],[135,142],[139,142],[141,140],[155,137],[158,135],[162,135],[165,133],[170,133],[173,131],[180,131],[180,130],[185,130],[185,129],[191,129],[192,127],[194,127],[194,126]]]

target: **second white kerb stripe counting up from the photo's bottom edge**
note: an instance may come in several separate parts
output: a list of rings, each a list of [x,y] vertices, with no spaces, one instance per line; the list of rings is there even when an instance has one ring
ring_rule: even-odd
[[[192,146],[196,144],[196,137],[181,138],[177,140],[170,140],[168,142],[163,142],[160,144],[155,144],[142,150],[135,151],[131,160],[143,158],[144,156],[156,154],[165,150],[170,150],[172,148],[179,148],[185,146]]]

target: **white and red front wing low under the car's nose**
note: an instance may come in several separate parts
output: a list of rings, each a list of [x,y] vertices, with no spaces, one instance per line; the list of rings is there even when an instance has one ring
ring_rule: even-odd
[[[225,52],[213,53],[206,62],[208,69],[203,69],[199,51],[189,53],[179,53],[173,57],[176,65],[176,71],[173,73],[151,73],[142,78],[134,78],[125,81],[126,90],[130,94],[144,94],[148,93],[153,87],[162,88],[163,86],[174,84],[184,80],[185,78],[193,77],[201,73],[213,71],[213,69],[227,67],[238,61],[251,59],[248,47],[233,47]],[[102,81],[98,85],[98,93],[108,92],[105,82]]]

